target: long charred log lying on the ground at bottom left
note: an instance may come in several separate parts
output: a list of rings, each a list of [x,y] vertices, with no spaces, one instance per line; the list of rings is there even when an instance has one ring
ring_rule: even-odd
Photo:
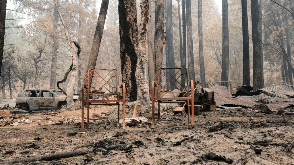
[[[48,154],[48,155],[41,155],[36,157],[30,157],[30,158],[24,158],[24,159],[16,159],[16,160],[10,160],[10,161],[3,161],[2,164],[14,164],[19,162],[32,162],[32,161],[39,161],[39,160],[45,160],[50,161],[54,159],[61,159],[61,158],[68,158],[68,157],[74,157],[77,155],[84,155],[88,154],[89,152],[95,152],[96,148],[90,148],[90,149],[82,149],[78,151],[70,151],[70,152],[61,152],[56,154]]]

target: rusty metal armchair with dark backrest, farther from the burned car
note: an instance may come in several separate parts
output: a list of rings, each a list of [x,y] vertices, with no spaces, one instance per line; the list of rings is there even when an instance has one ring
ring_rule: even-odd
[[[171,70],[175,69],[175,73]],[[155,126],[154,121],[154,104],[158,101],[158,121],[160,121],[160,103],[187,103],[188,104],[188,123],[190,123],[190,101],[192,109],[192,126],[195,126],[194,120],[194,83],[193,80],[188,84],[188,72],[186,67],[168,67],[158,69],[158,80],[152,82],[152,128]],[[174,75],[173,75],[174,74]],[[186,84],[181,84],[181,75],[186,76]],[[164,82],[162,80],[165,80]],[[161,84],[163,83],[163,84]],[[189,86],[191,86],[191,92],[189,92]],[[158,95],[155,97],[155,88],[157,87]],[[177,89],[178,91],[170,91],[171,89]],[[181,94],[182,97],[160,97],[161,94],[172,93]]]

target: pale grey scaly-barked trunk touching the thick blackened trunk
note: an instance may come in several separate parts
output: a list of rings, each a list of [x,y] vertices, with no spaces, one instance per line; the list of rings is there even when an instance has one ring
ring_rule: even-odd
[[[149,86],[145,71],[148,63],[147,26],[149,18],[149,0],[141,0],[141,23],[139,28],[138,61],[136,68],[137,103],[148,106],[150,104]]]

